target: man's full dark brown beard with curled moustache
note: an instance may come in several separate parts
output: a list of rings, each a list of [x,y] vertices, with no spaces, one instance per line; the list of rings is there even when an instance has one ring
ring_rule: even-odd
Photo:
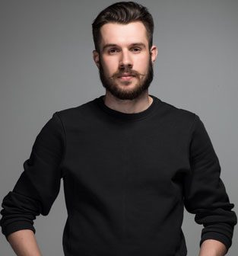
[[[119,85],[117,85],[115,79],[118,78],[122,73],[130,73],[135,78],[137,78],[138,82],[135,84],[135,87],[132,89],[121,89]],[[144,91],[148,90],[149,86],[154,77],[154,69],[151,59],[148,61],[148,69],[145,74],[140,74],[133,69],[127,68],[127,66],[123,69],[120,69],[119,72],[113,74],[112,77],[107,77],[104,73],[104,69],[102,63],[100,61],[99,68],[100,80],[103,84],[103,87],[106,88],[114,97],[119,98],[121,100],[133,100],[138,98]],[[132,78],[134,79],[134,78]],[[130,81],[124,81],[124,85],[129,85]]]

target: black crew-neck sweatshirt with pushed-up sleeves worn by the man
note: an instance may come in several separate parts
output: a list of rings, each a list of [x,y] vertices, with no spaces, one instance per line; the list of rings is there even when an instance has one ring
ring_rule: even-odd
[[[198,115],[150,94],[125,114],[103,95],[60,110],[43,126],[24,171],[2,202],[2,233],[36,230],[64,181],[66,256],[185,256],[184,206],[202,239],[230,248],[236,213]]]

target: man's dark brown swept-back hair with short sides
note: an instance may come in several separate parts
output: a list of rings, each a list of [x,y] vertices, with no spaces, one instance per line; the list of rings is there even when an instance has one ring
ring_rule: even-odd
[[[136,2],[116,2],[113,5],[109,5],[95,18],[93,27],[93,37],[95,50],[100,53],[100,28],[109,22],[119,23],[119,24],[129,24],[133,21],[141,21],[147,31],[149,48],[151,48],[153,43],[153,33],[154,33],[154,21],[148,8],[140,5]]]

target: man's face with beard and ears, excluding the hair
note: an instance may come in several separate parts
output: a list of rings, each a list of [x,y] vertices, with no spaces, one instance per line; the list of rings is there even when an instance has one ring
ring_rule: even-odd
[[[103,87],[116,98],[132,100],[153,80],[157,49],[148,49],[148,37],[140,21],[108,23],[101,27],[100,54],[94,56]],[[97,59],[98,58],[98,59]]]

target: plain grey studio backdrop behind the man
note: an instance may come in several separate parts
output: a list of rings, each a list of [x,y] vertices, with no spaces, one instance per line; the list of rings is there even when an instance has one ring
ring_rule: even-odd
[[[56,110],[104,94],[91,23],[111,1],[1,0],[0,199],[14,187],[43,125]],[[149,92],[191,110],[205,123],[221,163],[221,178],[237,211],[238,1],[140,1],[154,16],[158,46]],[[43,255],[63,255],[64,193],[35,221]],[[186,213],[188,255],[198,255],[202,226]],[[0,235],[1,255],[14,255]],[[228,255],[238,251],[237,229]],[[169,242],[168,242],[168,246]]]

